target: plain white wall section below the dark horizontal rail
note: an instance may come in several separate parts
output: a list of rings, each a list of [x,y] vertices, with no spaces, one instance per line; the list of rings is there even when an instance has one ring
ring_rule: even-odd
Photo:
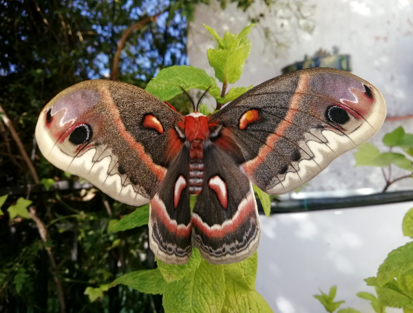
[[[410,241],[401,221],[413,202],[363,208],[261,215],[256,289],[278,313],[321,313],[313,298],[337,285],[341,308],[374,313],[357,292],[377,274],[388,253]],[[388,313],[401,312],[399,309]]]

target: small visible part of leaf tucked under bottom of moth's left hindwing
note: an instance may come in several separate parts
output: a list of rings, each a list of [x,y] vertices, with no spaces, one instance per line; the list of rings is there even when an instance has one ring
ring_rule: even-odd
[[[157,260],[156,263],[158,264],[158,269],[160,270],[162,277],[167,283],[171,283],[172,281],[178,281],[191,274],[191,272],[194,272],[198,266],[200,266],[202,260],[199,250],[194,248],[187,264],[173,265],[159,260]]]

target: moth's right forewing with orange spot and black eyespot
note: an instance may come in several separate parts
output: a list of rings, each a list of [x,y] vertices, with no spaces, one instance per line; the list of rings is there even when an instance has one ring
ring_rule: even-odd
[[[338,69],[303,69],[254,87],[213,114],[211,142],[269,194],[293,191],[381,127],[380,92]]]

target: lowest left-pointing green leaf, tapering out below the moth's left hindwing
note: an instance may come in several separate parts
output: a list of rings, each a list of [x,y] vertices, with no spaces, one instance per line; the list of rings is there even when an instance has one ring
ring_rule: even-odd
[[[115,279],[109,287],[112,288],[119,283],[146,294],[162,294],[166,285],[159,268],[129,272]]]

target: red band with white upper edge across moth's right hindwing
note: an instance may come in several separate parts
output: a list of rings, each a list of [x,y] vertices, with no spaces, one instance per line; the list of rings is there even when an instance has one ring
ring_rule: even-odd
[[[240,230],[240,225],[242,224],[242,222],[248,219],[249,215],[253,214],[254,216],[256,216],[255,199],[251,197],[251,193],[248,196],[248,202],[246,202],[245,204],[240,204],[240,206],[238,206],[238,213],[239,214],[236,215],[235,218],[233,218],[230,224],[226,224],[222,228],[211,229],[209,228],[209,226],[202,223],[202,220],[198,217],[192,217],[192,225],[199,228],[207,237],[222,238],[229,233],[235,233],[236,230]]]

